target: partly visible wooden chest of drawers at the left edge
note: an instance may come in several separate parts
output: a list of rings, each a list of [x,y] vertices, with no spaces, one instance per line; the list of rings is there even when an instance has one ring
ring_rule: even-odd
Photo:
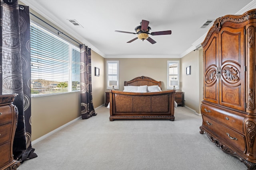
[[[13,159],[12,145],[18,109],[12,104],[16,94],[0,95],[0,170],[16,170],[20,162]]]

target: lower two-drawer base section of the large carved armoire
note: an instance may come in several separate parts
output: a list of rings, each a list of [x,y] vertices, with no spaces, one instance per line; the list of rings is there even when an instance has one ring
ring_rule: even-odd
[[[255,138],[255,127],[246,115],[204,101],[201,113],[203,122],[200,133],[205,132],[209,139],[227,154],[241,159],[247,157],[249,161],[255,159],[252,143]],[[246,162],[244,159],[243,161]]]

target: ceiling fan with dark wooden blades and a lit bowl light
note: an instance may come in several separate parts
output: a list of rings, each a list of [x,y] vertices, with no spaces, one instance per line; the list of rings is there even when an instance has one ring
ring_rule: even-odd
[[[120,32],[120,33],[131,33],[131,34],[138,34],[138,37],[128,41],[127,43],[131,43],[132,41],[136,40],[136,39],[142,39],[142,41],[144,41],[144,39],[148,40],[151,44],[156,43],[156,41],[154,41],[154,39],[148,37],[148,34],[150,35],[168,35],[171,34],[172,31],[168,30],[168,31],[157,31],[157,32],[152,32],[149,33],[151,28],[148,26],[149,21],[146,20],[142,20],[140,22],[140,25],[135,27],[135,31],[136,33],[132,33],[132,32],[126,32],[126,31],[118,31],[115,30],[115,32]]]

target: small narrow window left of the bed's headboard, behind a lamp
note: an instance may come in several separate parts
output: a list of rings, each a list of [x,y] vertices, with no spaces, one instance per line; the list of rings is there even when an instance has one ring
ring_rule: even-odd
[[[107,61],[107,89],[112,89],[109,81],[117,81],[115,89],[119,89],[119,61]]]

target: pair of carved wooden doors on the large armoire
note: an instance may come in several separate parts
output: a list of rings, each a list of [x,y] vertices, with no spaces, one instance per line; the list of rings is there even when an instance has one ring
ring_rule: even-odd
[[[245,110],[244,27],[223,27],[204,47],[204,100]]]

